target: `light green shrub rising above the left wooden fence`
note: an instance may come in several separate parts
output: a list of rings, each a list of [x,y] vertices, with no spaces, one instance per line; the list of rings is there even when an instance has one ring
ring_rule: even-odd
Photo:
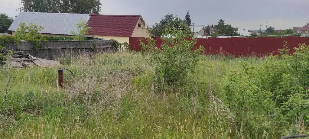
[[[29,26],[26,26],[26,23],[22,22],[19,24],[19,27],[15,31],[15,36],[21,40],[26,40],[32,42],[38,53],[38,48],[46,42],[46,38],[44,35],[39,34],[38,32],[44,29],[43,26],[37,26],[34,23],[30,23]]]

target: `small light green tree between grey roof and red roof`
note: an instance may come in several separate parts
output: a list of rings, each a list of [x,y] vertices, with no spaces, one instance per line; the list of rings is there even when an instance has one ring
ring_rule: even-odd
[[[80,22],[77,23],[76,27],[78,28],[78,32],[71,32],[73,35],[73,40],[86,40],[87,38],[85,36],[88,31],[91,30],[91,27],[88,27],[88,23],[81,19]]]

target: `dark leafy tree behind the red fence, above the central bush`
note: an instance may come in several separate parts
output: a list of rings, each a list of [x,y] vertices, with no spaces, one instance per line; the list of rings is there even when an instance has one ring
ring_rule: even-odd
[[[165,32],[167,28],[175,28],[177,30],[181,30],[185,34],[191,34],[189,26],[186,25],[179,17],[173,16],[173,14],[167,14],[160,20],[159,23],[155,23],[151,29],[151,32],[155,36],[162,36],[163,32]]]

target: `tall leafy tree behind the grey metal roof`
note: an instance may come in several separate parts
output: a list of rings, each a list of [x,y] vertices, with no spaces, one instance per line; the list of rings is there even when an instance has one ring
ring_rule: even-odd
[[[101,11],[100,0],[21,0],[23,12],[53,12],[53,13],[79,13],[98,14]]]

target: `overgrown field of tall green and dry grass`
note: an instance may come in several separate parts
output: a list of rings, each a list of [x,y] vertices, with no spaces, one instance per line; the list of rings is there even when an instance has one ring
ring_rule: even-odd
[[[242,121],[227,107],[224,77],[265,58],[201,55],[191,82],[164,92],[156,91],[154,69],[140,53],[86,54],[62,62],[74,72],[63,71],[63,88],[57,86],[57,68],[0,69],[2,93],[5,77],[12,85],[1,139],[281,137],[275,130],[239,126]]]

